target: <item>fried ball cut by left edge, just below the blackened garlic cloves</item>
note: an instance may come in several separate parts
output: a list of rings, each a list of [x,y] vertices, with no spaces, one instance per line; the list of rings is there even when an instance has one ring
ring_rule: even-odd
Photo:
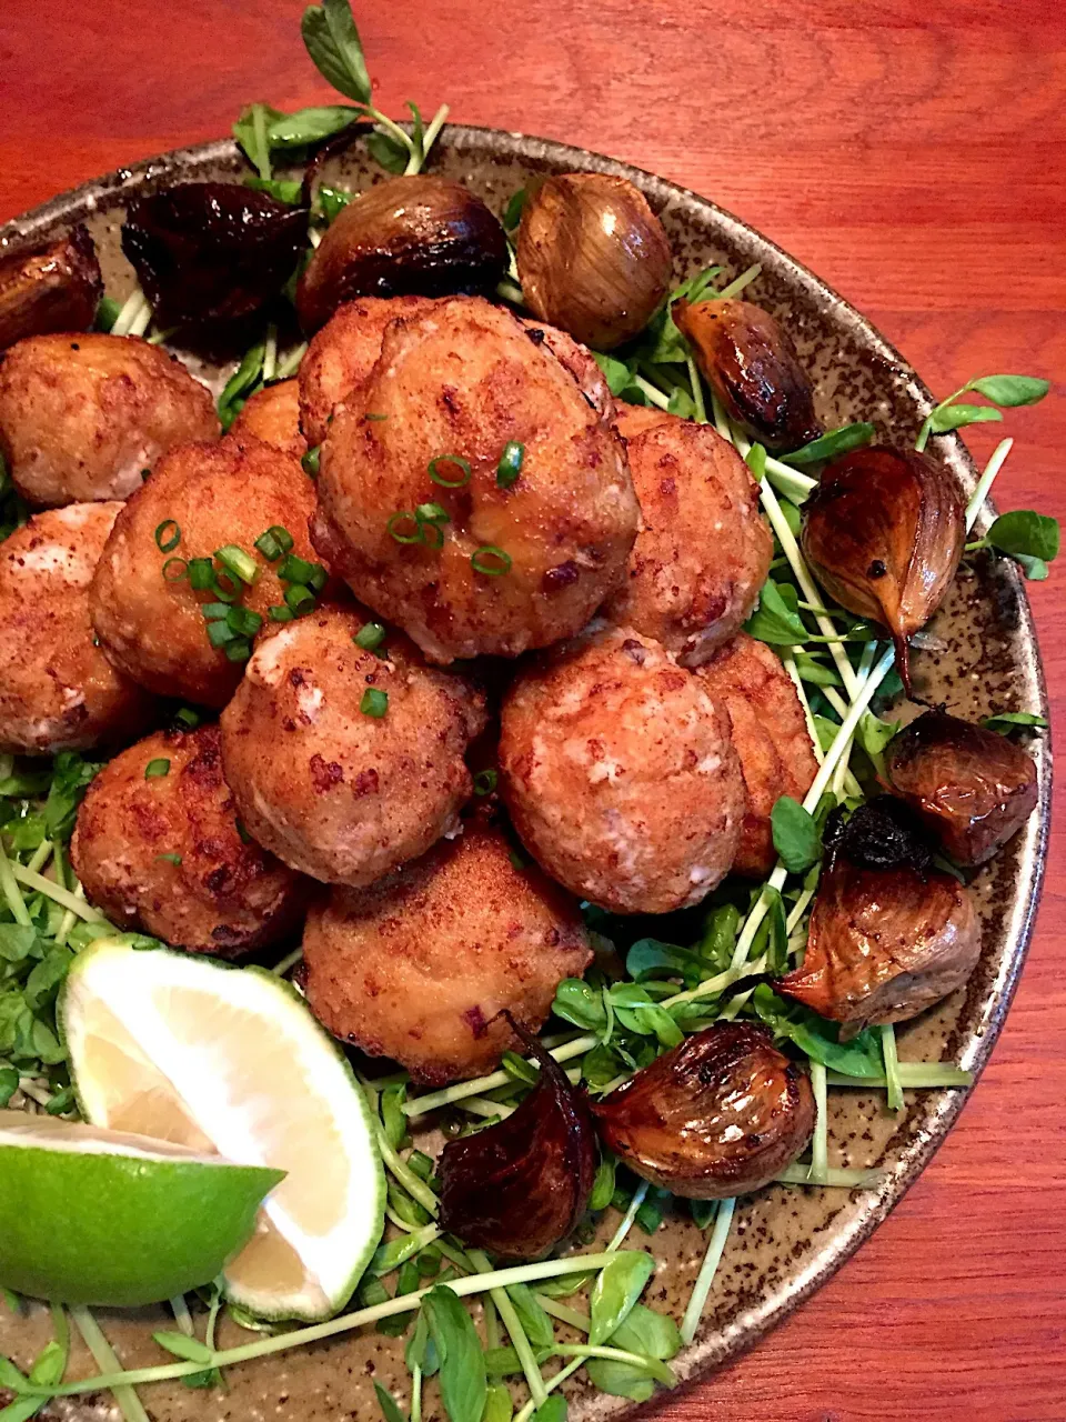
[[[161,454],[217,432],[210,391],[138,337],[31,336],[0,364],[0,454],[30,503],[126,499]]]

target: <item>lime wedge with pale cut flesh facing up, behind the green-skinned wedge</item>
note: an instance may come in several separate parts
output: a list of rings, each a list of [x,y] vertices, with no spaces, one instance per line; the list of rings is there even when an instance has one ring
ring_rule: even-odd
[[[58,1017],[87,1121],[286,1172],[229,1297],[263,1318],[337,1313],[381,1239],[385,1177],[367,1099],[300,995],[260,968],[104,939]]]

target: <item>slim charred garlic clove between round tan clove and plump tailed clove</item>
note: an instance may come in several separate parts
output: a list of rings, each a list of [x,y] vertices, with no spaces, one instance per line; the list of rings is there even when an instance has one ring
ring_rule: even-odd
[[[675,301],[678,330],[732,418],[768,449],[816,439],[814,391],[783,327],[750,301]]]

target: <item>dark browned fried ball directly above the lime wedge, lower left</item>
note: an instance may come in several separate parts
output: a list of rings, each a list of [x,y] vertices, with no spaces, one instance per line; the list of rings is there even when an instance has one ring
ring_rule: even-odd
[[[230,958],[294,931],[310,884],[242,833],[219,742],[203,725],[122,751],[88,788],[71,859],[112,923]]]

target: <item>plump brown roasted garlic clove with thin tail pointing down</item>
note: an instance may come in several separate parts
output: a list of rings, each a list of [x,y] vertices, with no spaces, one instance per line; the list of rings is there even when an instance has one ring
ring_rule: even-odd
[[[836,459],[803,506],[812,572],[841,607],[888,629],[908,695],[907,638],[944,600],[965,533],[954,475],[912,449]]]

